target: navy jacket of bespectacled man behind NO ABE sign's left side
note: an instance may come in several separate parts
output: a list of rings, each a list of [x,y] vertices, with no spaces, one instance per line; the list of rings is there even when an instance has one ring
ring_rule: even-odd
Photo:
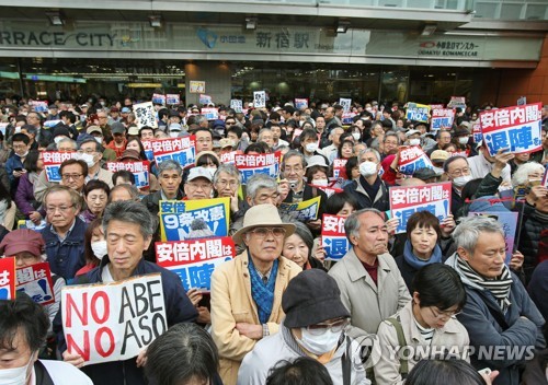
[[[50,224],[41,232],[46,243],[47,261],[52,272],[65,278],[67,281],[75,278],[76,272],[85,266],[83,238],[87,228],[85,222],[77,218],[72,231],[62,243],[52,232]]]

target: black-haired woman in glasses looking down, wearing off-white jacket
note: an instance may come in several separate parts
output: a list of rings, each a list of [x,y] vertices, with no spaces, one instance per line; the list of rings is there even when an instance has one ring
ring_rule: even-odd
[[[411,287],[413,299],[379,325],[377,384],[403,384],[418,361],[435,352],[450,349],[452,354],[468,359],[468,332],[455,318],[466,303],[458,273],[443,264],[426,265]],[[410,351],[403,353],[401,347]]]

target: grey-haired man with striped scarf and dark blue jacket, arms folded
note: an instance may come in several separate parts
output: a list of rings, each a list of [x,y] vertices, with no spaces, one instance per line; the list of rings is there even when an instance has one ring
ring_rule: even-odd
[[[465,218],[453,237],[457,252],[446,264],[459,273],[468,296],[458,320],[470,337],[470,362],[477,370],[498,370],[493,385],[517,385],[525,361],[546,345],[540,332],[545,320],[504,265],[506,244],[499,222]]]

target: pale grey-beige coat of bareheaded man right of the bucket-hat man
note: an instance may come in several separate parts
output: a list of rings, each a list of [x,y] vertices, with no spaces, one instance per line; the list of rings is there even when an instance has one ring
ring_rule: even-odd
[[[396,314],[410,300],[406,281],[390,254],[378,257],[378,288],[354,249],[329,270],[341,290],[341,300],[351,314],[351,324],[367,334],[377,332],[380,322]],[[356,330],[351,332],[355,336]]]

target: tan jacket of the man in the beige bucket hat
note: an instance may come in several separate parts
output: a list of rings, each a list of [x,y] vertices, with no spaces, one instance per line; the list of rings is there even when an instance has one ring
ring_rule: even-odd
[[[243,357],[253,350],[256,340],[240,335],[237,323],[261,325],[256,304],[251,296],[248,252],[219,266],[212,275],[212,336],[219,349],[220,376],[225,385],[236,385]],[[285,317],[282,294],[290,279],[302,269],[279,257],[274,304],[269,318],[270,334],[278,331]]]

